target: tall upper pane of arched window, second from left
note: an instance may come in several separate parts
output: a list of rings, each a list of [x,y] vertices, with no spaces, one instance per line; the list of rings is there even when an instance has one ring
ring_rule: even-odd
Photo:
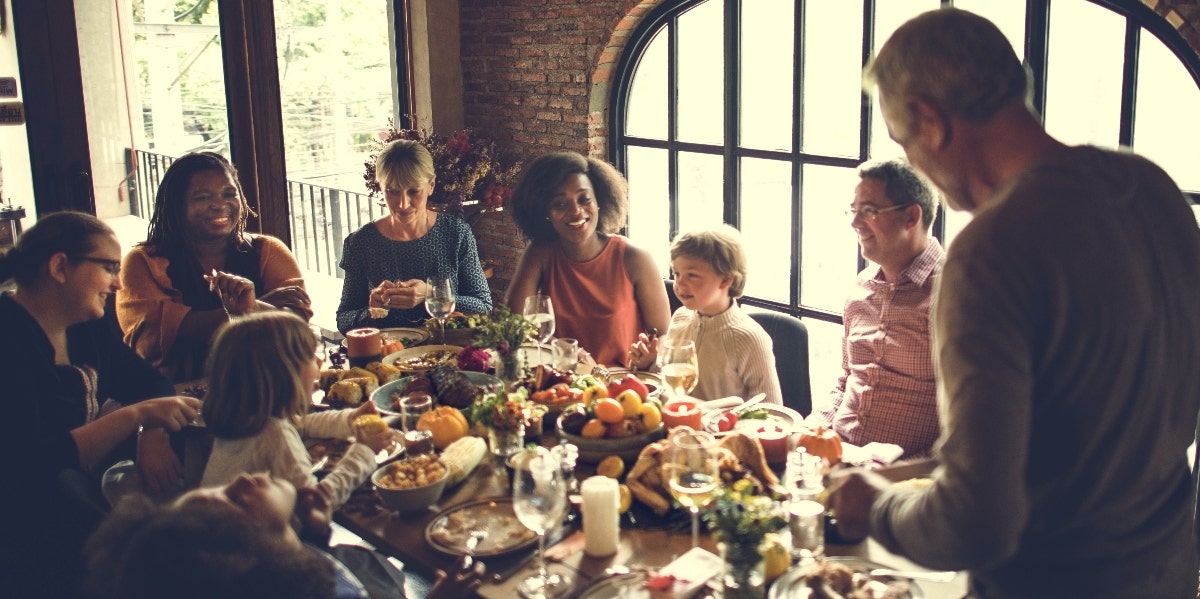
[[[725,55],[721,2],[709,0],[679,17],[679,139],[724,139]]]

